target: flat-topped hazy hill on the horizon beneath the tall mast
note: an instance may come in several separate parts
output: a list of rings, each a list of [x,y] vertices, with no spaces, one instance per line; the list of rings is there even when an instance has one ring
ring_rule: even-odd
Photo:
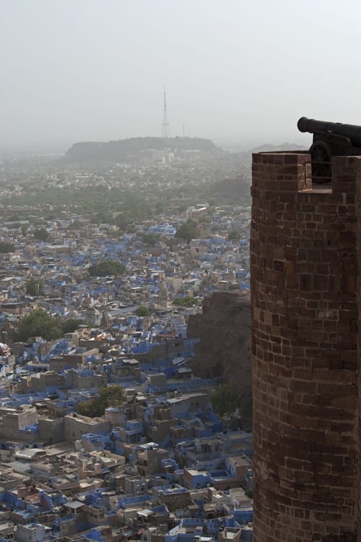
[[[121,162],[147,151],[223,153],[211,140],[199,137],[132,137],[129,140],[74,143],[64,156],[68,162]]]

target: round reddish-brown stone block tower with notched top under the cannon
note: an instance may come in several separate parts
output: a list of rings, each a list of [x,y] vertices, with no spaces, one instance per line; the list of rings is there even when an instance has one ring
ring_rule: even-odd
[[[254,540],[355,542],[361,158],[258,153],[251,192]]]

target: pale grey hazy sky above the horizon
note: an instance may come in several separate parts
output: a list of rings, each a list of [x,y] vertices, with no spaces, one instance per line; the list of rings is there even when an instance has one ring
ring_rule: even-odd
[[[0,0],[0,148],[361,124],[359,0]]]

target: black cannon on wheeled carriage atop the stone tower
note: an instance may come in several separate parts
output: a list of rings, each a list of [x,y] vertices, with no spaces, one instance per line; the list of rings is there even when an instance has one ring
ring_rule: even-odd
[[[332,156],[361,156],[361,126],[341,122],[316,121],[302,116],[297,122],[300,132],[314,134],[309,148],[312,179],[315,183],[331,181]]]

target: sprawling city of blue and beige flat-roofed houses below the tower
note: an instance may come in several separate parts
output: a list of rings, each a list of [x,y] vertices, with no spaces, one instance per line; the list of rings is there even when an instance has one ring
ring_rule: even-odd
[[[249,157],[6,156],[0,190],[1,539],[251,540],[249,382],[188,329],[249,304]]]

